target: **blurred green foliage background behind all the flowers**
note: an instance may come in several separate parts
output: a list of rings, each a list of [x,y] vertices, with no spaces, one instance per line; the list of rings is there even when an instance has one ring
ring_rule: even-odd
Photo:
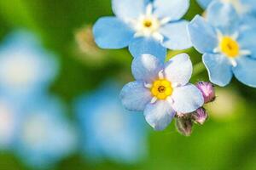
[[[202,12],[192,0],[185,18],[191,20]],[[92,52],[89,48],[89,52],[83,53],[79,48],[78,32],[103,15],[112,15],[110,0],[0,0],[0,41],[12,31],[26,29],[42,39],[44,48],[59,56],[61,74],[51,93],[65,100],[70,119],[71,102],[79,94],[89,93],[109,78],[122,84],[132,81],[132,58],[126,49],[90,47]],[[194,49],[187,52],[194,64],[200,62],[201,55]],[[207,81],[206,71],[193,77],[193,82],[201,80]],[[148,156],[137,164],[91,163],[75,154],[55,169],[256,169],[256,90],[233,80],[229,87],[217,88],[217,101],[208,105],[208,112],[210,119],[204,126],[195,126],[190,137],[177,133],[174,123],[163,132],[150,129]],[[11,153],[1,152],[0,169],[30,167]]]

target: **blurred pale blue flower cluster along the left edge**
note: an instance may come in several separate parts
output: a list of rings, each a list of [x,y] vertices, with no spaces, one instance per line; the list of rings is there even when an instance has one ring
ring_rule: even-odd
[[[77,138],[61,99],[49,94],[58,74],[55,55],[27,31],[0,46],[0,150],[31,167],[52,167],[72,154]]]

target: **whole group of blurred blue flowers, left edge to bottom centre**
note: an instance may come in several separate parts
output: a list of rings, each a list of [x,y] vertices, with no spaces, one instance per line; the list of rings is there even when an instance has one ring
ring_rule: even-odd
[[[49,92],[56,56],[27,31],[10,34],[0,49],[0,151],[32,169],[55,168],[78,150],[92,161],[130,164],[147,156],[146,123],[121,105],[118,83],[74,99],[70,121],[67,105]]]

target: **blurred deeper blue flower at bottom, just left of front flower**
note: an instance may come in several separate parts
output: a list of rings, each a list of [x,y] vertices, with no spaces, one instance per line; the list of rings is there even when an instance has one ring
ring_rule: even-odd
[[[119,86],[105,83],[95,94],[74,103],[78,116],[82,152],[91,161],[110,159],[134,163],[146,156],[146,126],[143,117],[123,109]]]

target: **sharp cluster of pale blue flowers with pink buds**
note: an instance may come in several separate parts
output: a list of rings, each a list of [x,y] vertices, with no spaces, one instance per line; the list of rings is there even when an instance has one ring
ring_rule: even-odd
[[[116,17],[96,21],[93,33],[101,48],[125,48],[133,56],[129,82],[120,93],[127,110],[143,111],[155,130],[177,118],[177,130],[191,133],[193,122],[203,124],[203,108],[215,99],[212,83],[226,86],[233,75],[256,88],[256,38],[254,1],[202,0],[206,18],[182,17],[189,0],[113,0]],[[189,83],[193,65],[188,54],[166,63],[166,49],[194,47],[202,56],[210,82]]]

